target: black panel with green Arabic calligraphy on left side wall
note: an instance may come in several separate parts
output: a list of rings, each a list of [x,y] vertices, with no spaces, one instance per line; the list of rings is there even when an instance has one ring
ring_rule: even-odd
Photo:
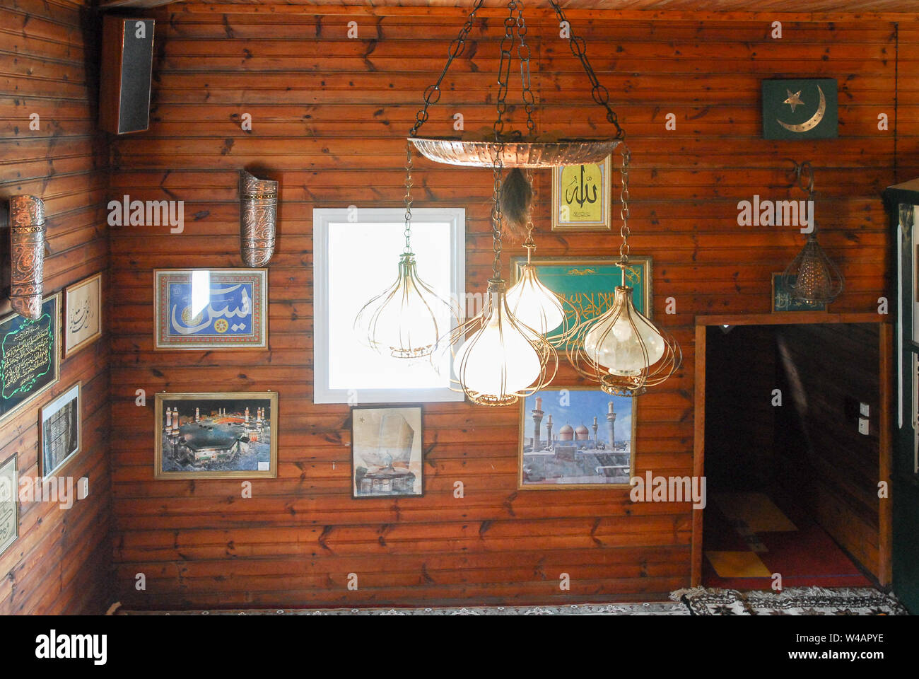
[[[41,316],[13,314],[0,321],[0,421],[58,381],[61,369],[61,293],[41,304]]]

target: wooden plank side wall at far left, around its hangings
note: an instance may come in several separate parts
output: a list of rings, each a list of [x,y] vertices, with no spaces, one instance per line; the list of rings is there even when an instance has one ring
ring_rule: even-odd
[[[89,3],[9,0],[0,8],[0,203],[7,296],[6,200],[45,202],[50,255],[45,291],[108,270],[108,157],[96,133],[96,35]],[[39,130],[29,116],[39,114]],[[105,277],[103,278],[105,284]],[[62,475],[87,477],[89,497],[64,510],[22,502],[19,537],[0,557],[0,614],[77,614],[108,601],[111,495],[108,476],[108,338],[62,362],[61,380],[0,429],[0,460],[17,455],[19,477],[38,476],[39,408],[83,381],[83,449]],[[75,492],[75,481],[74,481]]]

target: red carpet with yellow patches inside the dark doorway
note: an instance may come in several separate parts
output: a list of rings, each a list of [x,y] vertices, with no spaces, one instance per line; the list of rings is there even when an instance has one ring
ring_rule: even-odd
[[[782,589],[872,586],[833,538],[806,515],[783,512],[798,530],[760,529],[754,533],[744,524],[732,522],[719,504],[717,499],[710,501],[704,514],[702,582],[706,587],[771,589],[770,577],[751,577],[766,571],[781,574]],[[718,563],[721,574],[712,560]],[[730,573],[737,575],[725,577]]]

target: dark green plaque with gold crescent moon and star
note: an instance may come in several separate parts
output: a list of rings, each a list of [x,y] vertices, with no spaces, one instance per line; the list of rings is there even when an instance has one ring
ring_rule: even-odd
[[[764,139],[834,139],[839,136],[833,78],[763,81]]]

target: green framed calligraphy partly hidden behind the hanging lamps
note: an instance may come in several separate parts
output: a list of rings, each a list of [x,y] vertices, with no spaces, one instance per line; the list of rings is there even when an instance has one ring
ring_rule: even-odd
[[[536,266],[541,281],[553,293],[560,294],[577,311],[578,322],[607,312],[613,302],[616,286],[623,284],[622,270],[617,266],[618,258],[539,258],[530,263]],[[516,282],[520,267],[527,263],[526,257],[511,258],[511,279]],[[625,284],[634,288],[632,303],[635,309],[651,318],[651,258],[630,257],[629,268],[625,270]],[[573,316],[574,310],[565,305],[565,311]],[[569,317],[567,327],[573,327],[574,319]],[[566,324],[546,334],[546,338],[561,335]],[[563,348],[562,348],[563,349]]]

